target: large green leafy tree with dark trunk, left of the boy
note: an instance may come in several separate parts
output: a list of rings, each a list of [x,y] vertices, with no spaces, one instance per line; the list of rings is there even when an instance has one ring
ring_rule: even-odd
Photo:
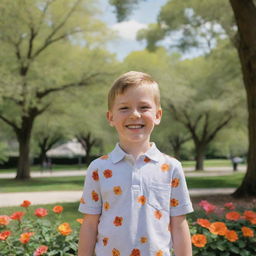
[[[0,3],[0,120],[19,143],[17,179],[30,178],[34,121],[50,107],[53,95],[95,84],[111,60],[97,49],[108,32],[94,17],[96,11],[91,0]],[[101,71],[96,68],[100,60]]]

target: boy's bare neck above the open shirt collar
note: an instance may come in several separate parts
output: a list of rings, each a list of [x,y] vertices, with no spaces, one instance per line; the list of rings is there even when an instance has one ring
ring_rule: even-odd
[[[145,141],[143,143],[126,144],[119,141],[120,147],[129,155],[132,155],[134,159],[137,159],[140,155],[143,155],[150,148],[150,142]]]

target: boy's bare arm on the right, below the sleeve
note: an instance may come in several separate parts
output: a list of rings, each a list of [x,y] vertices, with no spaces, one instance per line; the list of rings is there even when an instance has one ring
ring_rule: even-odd
[[[191,237],[185,215],[170,218],[175,256],[192,256]]]

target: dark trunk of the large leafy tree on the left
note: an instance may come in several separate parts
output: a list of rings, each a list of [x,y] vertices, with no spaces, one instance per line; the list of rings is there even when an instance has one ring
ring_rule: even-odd
[[[16,131],[19,142],[19,159],[16,179],[30,179],[30,138],[34,119],[23,117],[21,128]]]

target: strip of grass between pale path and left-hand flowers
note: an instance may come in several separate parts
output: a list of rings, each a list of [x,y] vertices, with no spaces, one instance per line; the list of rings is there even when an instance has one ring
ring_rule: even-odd
[[[52,208],[55,205],[61,205],[64,207],[63,213],[62,213],[62,219],[63,222],[69,222],[69,223],[76,223],[77,218],[83,218],[83,214],[78,212],[78,206],[79,202],[74,202],[74,203],[56,203],[56,204],[47,204],[47,205],[31,205],[29,207],[29,211],[31,214],[33,214],[34,210],[37,208],[45,208],[48,210],[49,217],[48,218],[55,218],[55,213],[52,212]],[[23,207],[20,206],[15,206],[15,207],[2,207],[0,209],[0,215],[11,215],[14,212],[17,211],[25,211]],[[77,225],[79,225],[77,223]]]

